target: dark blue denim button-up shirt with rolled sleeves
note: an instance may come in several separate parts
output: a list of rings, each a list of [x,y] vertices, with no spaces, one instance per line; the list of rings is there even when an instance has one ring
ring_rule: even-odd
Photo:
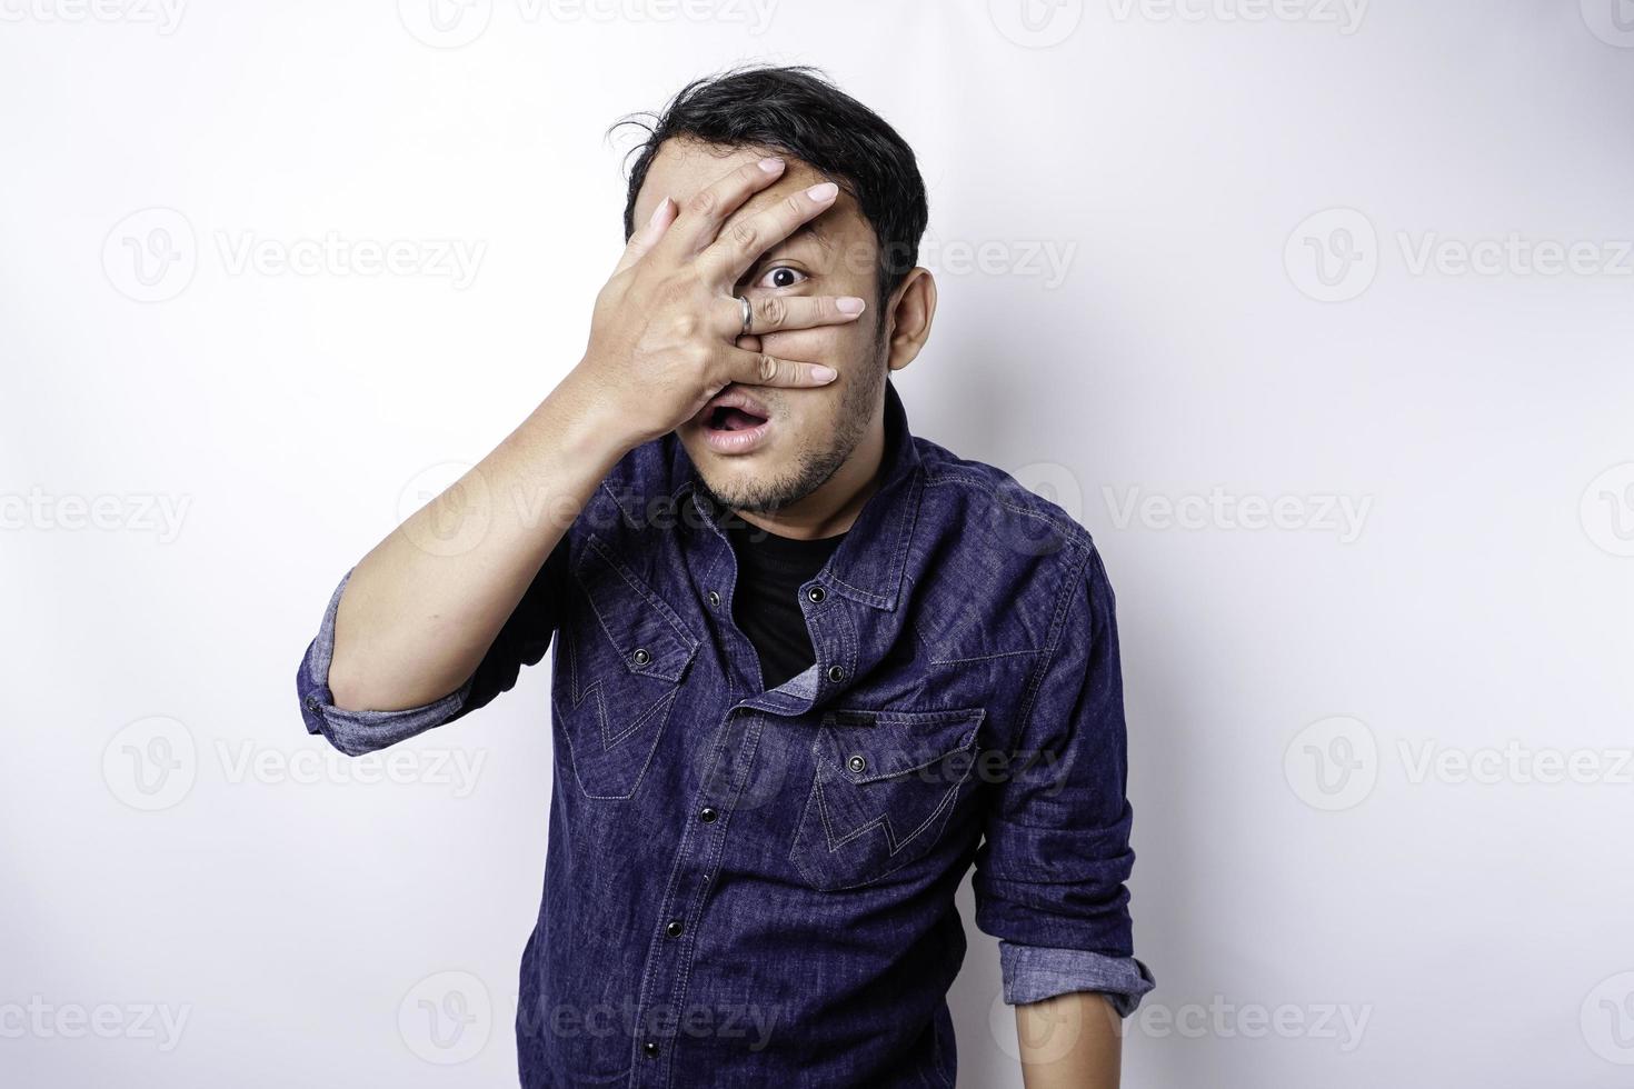
[[[299,669],[310,733],[359,754],[441,727],[554,647],[544,903],[523,1086],[953,1086],[946,993],[975,926],[1003,994],[1152,988],[1113,591],[1088,532],[909,433],[801,588],[817,661],[763,691],[735,557],[675,434],[631,451],[475,674],[426,707],[333,705],[337,588]]]

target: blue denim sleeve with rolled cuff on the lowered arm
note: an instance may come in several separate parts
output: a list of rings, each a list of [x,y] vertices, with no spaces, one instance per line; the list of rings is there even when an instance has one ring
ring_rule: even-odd
[[[1100,991],[1129,1016],[1155,980],[1134,957],[1118,627],[1093,545],[1056,606],[1052,632],[1011,772],[989,792],[975,924],[1000,939],[1007,1002]]]

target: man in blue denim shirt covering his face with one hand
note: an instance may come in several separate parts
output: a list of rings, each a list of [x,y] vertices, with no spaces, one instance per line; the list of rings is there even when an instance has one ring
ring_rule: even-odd
[[[913,152],[810,70],[685,88],[583,359],[307,648],[307,728],[366,753],[554,643],[525,1086],[953,1086],[972,862],[1026,1084],[1118,1081],[1152,976],[1111,588],[1065,513],[909,433],[925,224]]]

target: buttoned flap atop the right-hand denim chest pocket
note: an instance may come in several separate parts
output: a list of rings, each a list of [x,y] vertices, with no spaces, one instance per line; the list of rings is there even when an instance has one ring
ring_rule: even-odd
[[[833,777],[864,784],[905,776],[930,767],[975,745],[975,731],[987,715],[982,707],[956,710],[863,710],[824,712],[827,736],[824,761]]]

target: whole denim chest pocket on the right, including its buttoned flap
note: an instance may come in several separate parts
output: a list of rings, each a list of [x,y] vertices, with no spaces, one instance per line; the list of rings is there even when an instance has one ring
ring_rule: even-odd
[[[868,885],[930,854],[967,790],[980,707],[830,710],[789,859],[824,891]]]

